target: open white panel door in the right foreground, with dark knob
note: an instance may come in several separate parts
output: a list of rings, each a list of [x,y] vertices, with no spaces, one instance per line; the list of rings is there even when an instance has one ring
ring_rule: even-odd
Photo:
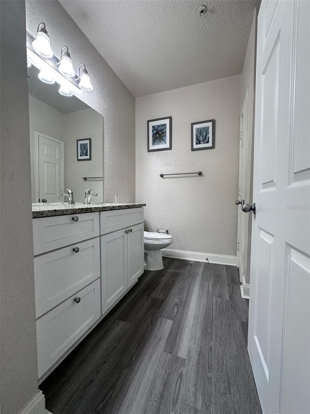
[[[258,17],[248,352],[264,414],[310,413],[309,21],[309,1]]]

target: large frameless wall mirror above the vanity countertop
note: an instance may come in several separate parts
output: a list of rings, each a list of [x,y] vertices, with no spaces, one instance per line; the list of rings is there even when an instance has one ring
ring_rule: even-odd
[[[57,83],[43,83],[38,73],[28,68],[32,203],[65,201],[65,188],[81,203],[85,190],[93,188],[98,196],[92,202],[102,203],[103,117],[77,97],[62,96]],[[78,160],[77,141],[89,138],[91,147],[81,148],[91,156]]]

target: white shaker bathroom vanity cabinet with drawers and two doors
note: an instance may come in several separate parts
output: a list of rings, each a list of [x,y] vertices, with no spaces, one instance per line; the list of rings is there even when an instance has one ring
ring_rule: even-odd
[[[143,208],[90,210],[33,219],[41,380],[143,273]]]

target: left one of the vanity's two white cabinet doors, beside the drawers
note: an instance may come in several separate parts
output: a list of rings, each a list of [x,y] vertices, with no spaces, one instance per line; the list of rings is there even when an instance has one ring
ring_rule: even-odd
[[[101,312],[104,314],[127,289],[127,233],[101,236]]]

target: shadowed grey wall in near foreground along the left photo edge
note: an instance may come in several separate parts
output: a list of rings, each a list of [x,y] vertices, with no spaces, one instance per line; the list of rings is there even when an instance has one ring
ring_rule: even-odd
[[[14,30],[12,30],[14,22]],[[38,392],[25,2],[0,2],[0,404],[20,413]]]

